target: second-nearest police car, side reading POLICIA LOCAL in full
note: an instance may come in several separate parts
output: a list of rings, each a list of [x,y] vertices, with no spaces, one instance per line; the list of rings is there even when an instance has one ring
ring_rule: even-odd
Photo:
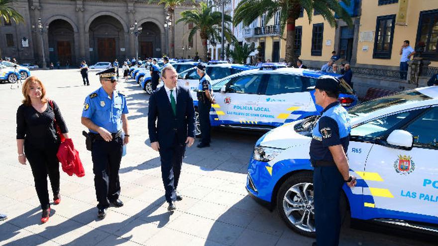
[[[325,75],[340,78],[341,75],[284,66],[265,64],[259,69],[244,71],[213,82],[216,104],[212,105],[210,111],[211,125],[270,130],[285,123],[318,115],[323,109],[315,104],[314,87],[317,79]],[[357,103],[354,91],[343,80],[339,101],[346,108]],[[196,96],[194,104],[197,107]],[[200,133],[197,128],[197,134]]]

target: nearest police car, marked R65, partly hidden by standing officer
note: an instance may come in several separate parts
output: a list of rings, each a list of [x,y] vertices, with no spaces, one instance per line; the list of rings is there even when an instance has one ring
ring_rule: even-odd
[[[438,233],[438,86],[403,91],[348,109],[347,151],[354,188],[341,207],[353,219]],[[248,166],[246,189],[277,207],[298,233],[314,236],[312,128],[318,116],[262,136]]]

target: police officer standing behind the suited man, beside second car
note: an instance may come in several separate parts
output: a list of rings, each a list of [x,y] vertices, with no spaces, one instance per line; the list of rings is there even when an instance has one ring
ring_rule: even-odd
[[[212,103],[215,102],[213,97],[213,89],[211,84],[210,76],[206,74],[206,67],[201,63],[197,66],[197,72],[199,77],[198,85],[198,113],[199,113],[199,124],[201,128],[201,143],[196,147],[204,148],[209,147],[210,138],[210,109],[212,108]]]

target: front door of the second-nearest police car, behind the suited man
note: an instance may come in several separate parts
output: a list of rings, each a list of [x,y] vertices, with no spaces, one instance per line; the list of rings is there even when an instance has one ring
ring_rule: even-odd
[[[225,85],[225,92],[215,94],[214,108],[220,123],[235,125],[257,125],[261,113],[257,105],[264,74],[243,75],[232,78]],[[213,110],[212,110],[213,111]]]

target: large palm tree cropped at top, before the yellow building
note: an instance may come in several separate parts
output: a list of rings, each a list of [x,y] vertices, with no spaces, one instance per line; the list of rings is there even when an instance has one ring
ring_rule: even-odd
[[[340,0],[347,6],[350,0]],[[351,17],[347,11],[340,5],[339,0],[242,0],[237,4],[234,11],[234,24],[243,22],[248,26],[258,16],[266,13],[266,22],[269,21],[277,11],[280,11],[280,30],[281,36],[285,27],[286,34],[286,62],[295,64],[295,21],[300,16],[301,8],[305,9],[309,17],[309,23],[312,21],[314,10],[321,13],[331,27],[336,26],[334,14],[343,19],[349,26],[352,26]]]

